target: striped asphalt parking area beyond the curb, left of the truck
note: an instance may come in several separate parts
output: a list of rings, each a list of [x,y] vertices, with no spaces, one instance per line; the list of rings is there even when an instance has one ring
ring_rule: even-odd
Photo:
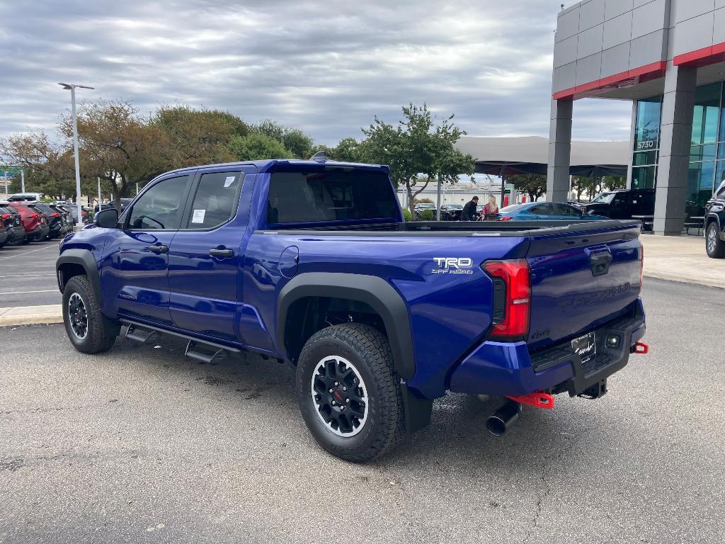
[[[0,250],[0,308],[60,304],[55,279],[59,240]]]

